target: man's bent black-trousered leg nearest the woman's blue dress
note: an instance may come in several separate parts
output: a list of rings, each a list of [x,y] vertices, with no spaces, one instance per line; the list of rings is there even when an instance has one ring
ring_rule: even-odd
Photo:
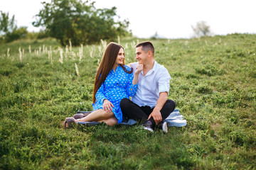
[[[120,107],[124,117],[134,120],[147,120],[149,118],[149,115],[146,115],[142,108],[129,100],[129,98],[123,98],[120,102]]]

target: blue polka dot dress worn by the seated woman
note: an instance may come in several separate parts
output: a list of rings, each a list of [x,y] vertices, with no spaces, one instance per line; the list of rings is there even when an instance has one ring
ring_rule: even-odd
[[[124,67],[130,71],[131,68],[124,65]],[[134,96],[137,91],[138,85],[132,84],[133,74],[124,72],[121,66],[117,66],[116,72],[112,69],[107,75],[104,83],[100,86],[95,94],[95,104],[92,103],[93,111],[103,109],[103,100],[109,100],[113,105],[112,112],[118,120],[118,123],[122,123],[122,111],[120,108],[120,101],[122,98],[129,98]]]

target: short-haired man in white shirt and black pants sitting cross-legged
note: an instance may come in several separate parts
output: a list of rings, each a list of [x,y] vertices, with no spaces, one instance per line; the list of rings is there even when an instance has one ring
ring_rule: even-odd
[[[151,42],[141,42],[136,45],[136,59],[131,67],[135,72],[142,65],[139,73],[138,89],[132,101],[123,98],[120,107],[124,117],[143,121],[145,130],[153,132],[156,125],[166,133],[166,122],[163,122],[174,111],[175,102],[167,100],[171,76],[168,70],[154,60],[154,46]],[[137,76],[137,75],[134,75]]]

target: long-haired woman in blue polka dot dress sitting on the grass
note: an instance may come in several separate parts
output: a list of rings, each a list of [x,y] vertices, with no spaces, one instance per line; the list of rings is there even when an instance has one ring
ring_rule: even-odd
[[[133,76],[132,69],[124,65],[124,47],[110,42],[97,68],[92,113],[84,118],[66,118],[65,127],[78,122],[105,122],[110,126],[121,123],[122,111],[119,103],[122,98],[134,96],[142,69],[142,64],[139,64]]]

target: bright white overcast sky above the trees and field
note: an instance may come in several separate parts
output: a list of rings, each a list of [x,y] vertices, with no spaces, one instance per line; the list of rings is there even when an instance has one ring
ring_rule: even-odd
[[[45,0],[50,2],[50,0]],[[0,0],[0,11],[15,15],[18,26],[32,26],[43,0]],[[213,35],[256,33],[255,0],[95,0],[96,8],[117,7],[122,21],[138,38],[191,38],[196,23],[205,21]]]

